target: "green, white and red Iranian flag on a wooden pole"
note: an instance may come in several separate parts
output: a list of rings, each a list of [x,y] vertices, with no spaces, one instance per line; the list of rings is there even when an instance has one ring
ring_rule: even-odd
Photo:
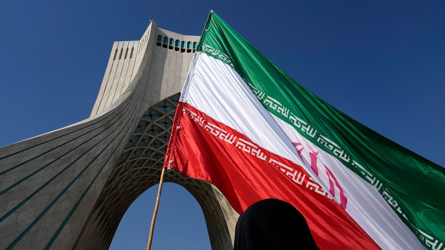
[[[214,12],[164,167],[215,185],[239,214],[292,204],[321,250],[445,249],[445,169],[312,94]]]

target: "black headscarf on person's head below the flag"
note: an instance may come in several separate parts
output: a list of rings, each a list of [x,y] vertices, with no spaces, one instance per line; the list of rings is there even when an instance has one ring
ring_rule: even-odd
[[[234,250],[260,249],[319,250],[303,215],[277,199],[249,206],[236,223]]]

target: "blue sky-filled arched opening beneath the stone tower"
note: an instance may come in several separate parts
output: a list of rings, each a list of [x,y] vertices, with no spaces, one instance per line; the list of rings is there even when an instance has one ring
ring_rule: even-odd
[[[146,190],[129,206],[109,250],[146,248],[158,186]],[[152,249],[210,248],[206,221],[199,203],[184,187],[164,183]]]

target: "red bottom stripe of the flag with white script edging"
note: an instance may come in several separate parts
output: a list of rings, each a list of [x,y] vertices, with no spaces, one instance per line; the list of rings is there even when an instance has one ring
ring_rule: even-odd
[[[186,103],[179,103],[176,111],[164,164],[169,166],[216,186],[239,214],[267,198],[292,204],[320,250],[380,250],[302,167]],[[294,238],[298,235],[283,232],[283,240]]]

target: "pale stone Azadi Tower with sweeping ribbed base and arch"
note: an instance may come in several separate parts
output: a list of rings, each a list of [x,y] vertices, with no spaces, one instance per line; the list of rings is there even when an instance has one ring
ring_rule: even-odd
[[[151,22],[114,42],[91,116],[0,148],[0,250],[105,250],[130,204],[159,183],[199,36]],[[166,173],[202,207],[213,250],[233,249],[239,217],[214,186]]]

